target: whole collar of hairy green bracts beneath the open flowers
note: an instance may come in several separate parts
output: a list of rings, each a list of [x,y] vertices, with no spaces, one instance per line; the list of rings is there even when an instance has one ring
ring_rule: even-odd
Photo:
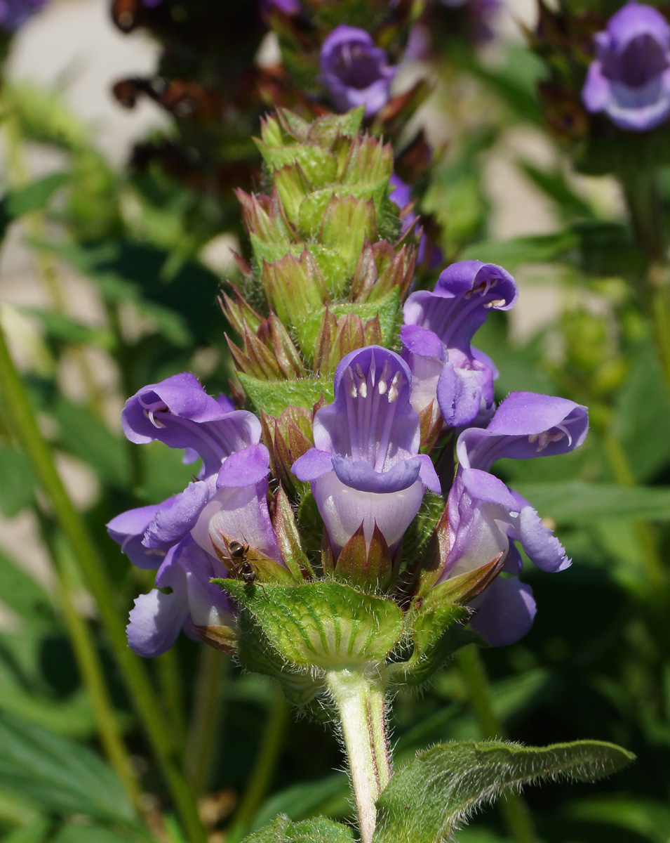
[[[335,579],[213,582],[242,607],[242,666],[276,679],[290,701],[319,719],[332,716],[332,671],[375,676],[381,687],[420,685],[478,639],[463,629],[469,610],[437,595],[401,608],[389,596]]]

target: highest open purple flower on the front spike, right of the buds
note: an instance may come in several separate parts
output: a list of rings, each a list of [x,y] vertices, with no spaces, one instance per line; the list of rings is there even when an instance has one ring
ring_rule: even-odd
[[[491,310],[509,310],[518,298],[502,266],[461,260],[440,275],[433,293],[407,298],[402,356],[412,369],[412,406],[422,411],[437,398],[444,421],[461,427],[493,403],[497,371],[472,336]]]

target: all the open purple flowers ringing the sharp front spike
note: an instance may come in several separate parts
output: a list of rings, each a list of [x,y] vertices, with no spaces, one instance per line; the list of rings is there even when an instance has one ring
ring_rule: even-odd
[[[518,578],[518,546],[543,571],[561,571],[570,561],[529,502],[491,473],[492,465],[503,457],[565,454],[588,429],[586,408],[561,398],[515,392],[496,409],[496,369],[471,338],[487,314],[511,308],[516,298],[508,272],[476,260],[449,266],[433,292],[412,293],[404,307],[402,354],[365,346],[343,357],[334,400],[313,415],[314,447],[292,466],[304,491],[309,483],[336,573],[354,536],[362,532],[368,548],[376,534],[383,537],[394,559],[395,577],[385,586],[391,597],[400,583],[403,535],[427,490],[441,493],[446,550],[433,584],[498,560],[499,576],[471,604],[472,626],[494,645],[518,640],[535,614],[531,589]],[[440,462],[421,453],[427,421],[446,443],[443,449],[456,440],[455,475],[436,470]],[[237,608],[210,580],[236,577],[247,551],[263,561],[269,582],[285,564],[260,421],[181,373],[133,395],[123,427],[131,442],[159,440],[183,448],[186,462],[202,460],[185,490],[108,525],[130,561],[157,569],[156,588],[130,612],[130,647],[157,656],[180,630],[211,642],[213,631],[234,629]],[[317,567],[316,575],[326,573]]]

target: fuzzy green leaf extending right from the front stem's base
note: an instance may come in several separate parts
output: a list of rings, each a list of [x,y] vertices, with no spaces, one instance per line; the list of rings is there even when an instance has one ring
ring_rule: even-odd
[[[560,776],[595,781],[634,758],[601,741],[547,747],[500,741],[434,746],[391,778],[377,801],[373,843],[442,843],[476,808],[505,792]]]

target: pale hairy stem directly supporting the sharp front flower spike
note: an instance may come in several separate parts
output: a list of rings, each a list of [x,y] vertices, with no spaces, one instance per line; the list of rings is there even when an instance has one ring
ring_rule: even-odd
[[[329,671],[327,686],[342,726],[361,843],[370,843],[377,821],[375,802],[391,779],[384,687],[349,668]]]

